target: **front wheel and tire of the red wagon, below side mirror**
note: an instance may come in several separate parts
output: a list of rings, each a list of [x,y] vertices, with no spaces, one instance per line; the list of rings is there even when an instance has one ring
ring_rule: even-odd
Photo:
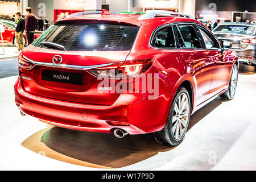
[[[230,77],[229,81],[229,89],[220,95],[222,100],[232,100],[234,98],[234,95],[236,94],[237,90],[237,80],[238,80],[238,68],[237,65],[234,64],[232,69],[232,75]]]

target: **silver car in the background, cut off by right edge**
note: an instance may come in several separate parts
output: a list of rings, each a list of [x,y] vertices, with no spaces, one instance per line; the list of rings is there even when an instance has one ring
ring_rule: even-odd
[[[212,31],[220,42],[222,40],[231,42],[239,62],[254,65],[256,72],[256,24],[221,23]]]

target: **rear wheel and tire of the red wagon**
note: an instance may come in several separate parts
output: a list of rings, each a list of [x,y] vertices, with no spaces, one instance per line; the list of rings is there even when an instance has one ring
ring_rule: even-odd
[[[179,106],[181,106],[181,108]],[[170,112],[168,114],[166,126],[164,126],[162,131],[153,133],[153,137],[155,138],[156,142],[168,146],[177,146],[179,143],[181,143],[188,129],[190,113],[191,102],[189,93],[187,89],[181,87],[175,94]]]

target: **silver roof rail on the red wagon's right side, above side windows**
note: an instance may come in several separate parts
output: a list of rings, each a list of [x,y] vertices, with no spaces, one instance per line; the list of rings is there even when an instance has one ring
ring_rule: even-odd
[[[144,20],[144,19],[151,19],[155,18],[156,15],[174,15],[174,16],[181,16],[181,17],[187,17],[187,18],[193,18],[191,15],[183,14],[183,13],[176,13],[173,11],[165,11],[165,10],[147,10],[146,14],[143,14],[138,19]]]

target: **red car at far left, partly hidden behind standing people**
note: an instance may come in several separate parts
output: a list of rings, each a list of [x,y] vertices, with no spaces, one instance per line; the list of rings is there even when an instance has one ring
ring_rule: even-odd
[[[3,35],[3,43],[4,44],[11,44],[18,47],[18,43],[15,40],[15,23],[9,20],[0,20],[0,24],[3,25],[5,28],[5,32],[2,33]],[[23,35],[23,42],[24,46],[27,46],[27,35]]]

